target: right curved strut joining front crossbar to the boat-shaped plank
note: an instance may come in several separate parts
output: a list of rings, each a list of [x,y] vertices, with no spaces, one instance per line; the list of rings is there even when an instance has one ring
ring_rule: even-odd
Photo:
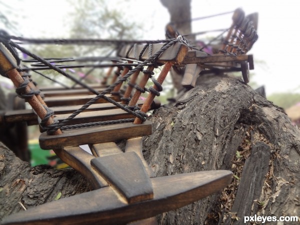
[[[156,174],[150,168],[150,166],[148,165],[148,163],[146,162],[146,160],[142,155],[142,136],[130,138],[126,140],[125,152],[131,152],[131,151],[135,152],[138,155],[146,172],[148,173],[148,176],[155,177]]]

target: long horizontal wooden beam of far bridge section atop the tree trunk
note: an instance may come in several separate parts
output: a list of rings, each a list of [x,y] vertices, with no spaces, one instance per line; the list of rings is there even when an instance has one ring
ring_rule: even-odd
[[[207,56],[189,56],[185,57],[181,64],[191,63],[210,63],[210,62],[227,62],[227,61],[247,61],[248,55],[207,55]]]

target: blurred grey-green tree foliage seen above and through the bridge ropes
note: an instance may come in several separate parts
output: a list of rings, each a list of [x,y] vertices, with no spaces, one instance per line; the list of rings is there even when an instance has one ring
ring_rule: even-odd
[[[138,39],[141,29],[141,24],[136,21],[127,21],[122,15],[126,13],[125,8],[108,8],[108,0],[77,0],[69,1],[72,11],[67,16],[66,29],[70,30],[66,38],[101,38],[101,39]],[[59,38],[57,33],[57,38]],[[26,46],[27,47],[27,46]],[[28,45],[30,51],[41,57],[54,57],[54,58],[69,58],[69,57],[85,57],[85,56],[108,56],[111,53],[115,55],[114,45],[103,44],[65,44],[65,45]],[[78,63],[78,62],[77,62]],[[79,62],[80,64],[92,64],[97,62]],[[70,64],[70,62],[64,63]],[[28,64],[29,65],[29,64]],[[90,67],[75,68],[75,73],[66,69],[66,72],[75,78],[79,79],[78,74],[86,73]],[[72,85],[73,82],[63,77],[59,73],[51,70],[40,71],[43,74],[59,80],[67,85]],[[106,69],[96,68],[91,79],[86,79],[87,83],[99,81],[104,76]],[[30,72],[32,78],[40,86],[49,85],[52,81],[41,77],[40,75]],[[91,77],[88,76],[88,77]]]

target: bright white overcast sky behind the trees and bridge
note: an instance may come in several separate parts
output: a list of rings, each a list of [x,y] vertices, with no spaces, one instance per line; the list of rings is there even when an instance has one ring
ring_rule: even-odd
[[[73,0],[74,2],[75,0]],[[9,0],[16,14],[19,35],[26,37],[63,37],[67,27],[67,15],[71,10],[67,0]],[[164,26],[169,21],[167,10],[159,0],[109,0],[110,7],[127,9],[124,16],[136,19],[144,25],[144,39],[163,39]],[[1,5],[0,5],[1,6]],[[1,6],[2,7],[2,6]],[[267,94],[274,92],[300,92],[300,64],[298,21],[300,1],[270,0],[192,0],[192,17],[232,11],[237,7],[249,14],[258,12],[259,39],[249,53],[265,64],[255,64],[253,80],[265,85]],[[231,15],[204,19],[192,23],[193,32],[227,28]]]

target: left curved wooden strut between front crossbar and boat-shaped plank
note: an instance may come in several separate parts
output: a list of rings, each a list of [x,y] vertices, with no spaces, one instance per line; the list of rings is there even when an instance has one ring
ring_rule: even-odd
[[[94,158],[93,155],[87,153],[79,146],[63,147],[53,150],[65,163],[80,172],[91,184],[93,189],[108,186],[105,179],[90,166],[90,160]]]

